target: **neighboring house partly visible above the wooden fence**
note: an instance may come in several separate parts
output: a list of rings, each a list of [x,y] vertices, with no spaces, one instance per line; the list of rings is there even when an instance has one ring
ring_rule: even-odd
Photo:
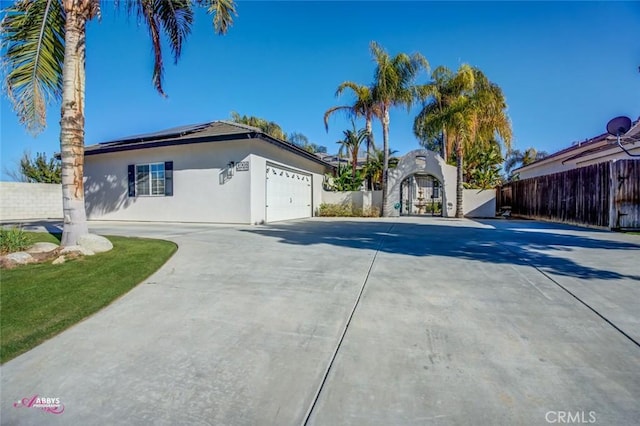
[[[621,144],[634,155],[640,155],[640,119],[623,135]],[[617,144],[616,137],[603,133],[569,148],[553,153],[541,160],[513,171],[519,179],[550,175],[611,160],[632,158]]]

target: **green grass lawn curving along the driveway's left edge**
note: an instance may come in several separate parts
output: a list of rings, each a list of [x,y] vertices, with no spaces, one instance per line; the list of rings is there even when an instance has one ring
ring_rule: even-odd
[[[29,233],[33,242],[60,235]],[[109,237],[113,250],[95,256],[3,270],[0,279],[0,363],[34,348],[127,293],[162,266],[174,243]]]

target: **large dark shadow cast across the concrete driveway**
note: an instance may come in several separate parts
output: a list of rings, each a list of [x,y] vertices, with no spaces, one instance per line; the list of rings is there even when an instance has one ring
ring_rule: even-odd
[[[554,232],[556,230],[559,232]],[[407,256],[444,256],[495,264],[535,265],[554,274],[580,279],[640,281],[640,275],[580,264],[573,259],[579,259],[580,253],[572,254],[571,259],[555,255],[577,249],[597,249],[634,262],[640,254],[640,244],[592,238],[580,233],[612,234],[564,225],[431,218],[417,219],[413,223],[335,220],[270,224],[245,229],[244,232],[278,238],[284,244],[331,244],[379,249],[383,253]],[[384,237],[383,244],[379,243],[381,237]],[[616,251],[615,254],[611,250]]]

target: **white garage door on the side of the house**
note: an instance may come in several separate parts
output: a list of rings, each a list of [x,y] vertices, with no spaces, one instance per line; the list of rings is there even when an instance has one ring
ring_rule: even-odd
[[[311,175],[267,163],[267,222],[311,217]]]

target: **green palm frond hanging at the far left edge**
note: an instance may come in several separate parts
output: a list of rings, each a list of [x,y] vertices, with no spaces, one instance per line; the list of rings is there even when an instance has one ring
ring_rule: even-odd
[[[62,94],[65,14],[60,0],[19,0],[0,28],[5,87],[32,134],[46,127],[46,107]]]

